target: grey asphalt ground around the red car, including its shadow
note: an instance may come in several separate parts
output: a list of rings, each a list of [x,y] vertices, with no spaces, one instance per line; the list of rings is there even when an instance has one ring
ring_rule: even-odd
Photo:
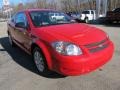
[[[115,44],[112,60],[92,73],[62,77],[41,76],[30,56],[9,45],[6,23],[0,23],[0,90],[120,90],[120,26],[93,25],[104,29]]]

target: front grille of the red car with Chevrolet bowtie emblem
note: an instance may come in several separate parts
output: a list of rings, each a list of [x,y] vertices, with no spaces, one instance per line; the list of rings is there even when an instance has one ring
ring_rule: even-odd
[[[109,46],[109,40],[108,39],[104,39],[104,40],[102,40],[100,42],[96,42],[96,43],[85,45],[85,47],[91,53],[95,53],[95,52],[101,51],[101,50],[107,48],[108,46]]]

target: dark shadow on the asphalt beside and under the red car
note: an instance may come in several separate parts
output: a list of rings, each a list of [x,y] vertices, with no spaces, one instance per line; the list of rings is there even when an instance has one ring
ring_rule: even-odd
[[[6,51],[12,57],[12,60],[25,69],[46,78],[56,79],[65,77],[55,72],[49,72],[47,75],[40,74],[34,64],[34,61],[31,59],[31,56],[26,54],[19,47],[11,47],[8,41],[8,37],[0,38],[0,44],[3,47],[3,49],[0,49],[0,52]]]

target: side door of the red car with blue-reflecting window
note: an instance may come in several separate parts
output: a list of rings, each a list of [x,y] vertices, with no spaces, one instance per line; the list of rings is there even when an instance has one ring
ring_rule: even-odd
[[[21,25],[19,25],[22,23]],[[18,25],[17,25],[18,24]],[[16,37],[18,43],[26,50],[30,50],[30,28],[29,23],[24,12],[21,12],[16,17]]]

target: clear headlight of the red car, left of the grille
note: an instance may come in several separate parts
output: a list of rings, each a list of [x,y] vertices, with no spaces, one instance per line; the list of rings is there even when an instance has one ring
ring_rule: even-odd
[[[81,55],[82,50],[77,46],[72,43],[68,42],[54,42],[52,43],[52,47],[60,54],[63,55]]]

